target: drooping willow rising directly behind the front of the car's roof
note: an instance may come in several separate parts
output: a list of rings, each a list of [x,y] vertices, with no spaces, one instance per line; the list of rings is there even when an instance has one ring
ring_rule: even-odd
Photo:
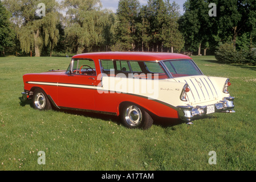
[[[64,0],[63,7],[67,9],[65,34],[72,52],[91,52],[105,42],[109,12],[101,10],[100,0]]]

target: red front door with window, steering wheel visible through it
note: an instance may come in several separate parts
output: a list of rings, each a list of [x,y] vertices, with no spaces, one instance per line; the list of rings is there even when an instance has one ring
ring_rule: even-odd
[[[59,77],[58,100],[61,108],[95,109],[96,69],[93,60],[72,60],[70,70]]]

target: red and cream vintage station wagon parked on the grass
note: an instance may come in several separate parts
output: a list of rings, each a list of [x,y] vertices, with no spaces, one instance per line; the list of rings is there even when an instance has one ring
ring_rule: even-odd
[[[72,57],[67,71],[27,74],[23,81],[22,98],[35,109],[113,114],[129,128],[148,129],[154,115],[191,123],[234,113],[229,78],[205,76],[191,57],[176,53],[84,53]]]

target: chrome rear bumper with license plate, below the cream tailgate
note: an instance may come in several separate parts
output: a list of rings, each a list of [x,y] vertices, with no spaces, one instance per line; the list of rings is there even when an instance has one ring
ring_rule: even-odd
[[[234,97],[225,97],[223,101],[209,106],[178,106],[178,115],[182,121],[190,122],[212,113],[235,113],[234,107]]]

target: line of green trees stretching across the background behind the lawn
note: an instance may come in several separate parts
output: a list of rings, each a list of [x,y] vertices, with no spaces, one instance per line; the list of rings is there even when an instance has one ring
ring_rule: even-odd
[[[45,5],[44,16],[38,5]],[[210,3],[216,16],[209,16]],[[170,0],[120,0],[116,13],[100,0],[0,2],[0,52],[51,56],[97,51],[214,53],[224,43],[251,50],[256,0],[187,0],[184,14]],[[40,9],[41,10],[41,9]]]

